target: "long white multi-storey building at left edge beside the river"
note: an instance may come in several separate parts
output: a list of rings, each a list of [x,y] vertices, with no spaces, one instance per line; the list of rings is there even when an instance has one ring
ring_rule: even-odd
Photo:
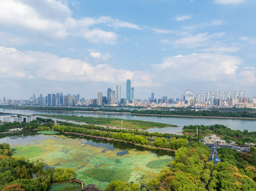
[[[1,114],[0,115],[0,120],[2,122],[23,122],[25,121],[26,123],[29,123],[30,121],[36,120],[36,115],[21,115],[17,116],[17,114]]]

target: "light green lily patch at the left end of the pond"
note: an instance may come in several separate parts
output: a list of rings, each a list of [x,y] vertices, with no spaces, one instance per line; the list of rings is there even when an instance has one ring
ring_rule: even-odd
[[[20,156],[25,158],[32,158],[42,154],[41,148],[37,146],[20,146],[20,147],[13,147],[12,151],[14,156]]]

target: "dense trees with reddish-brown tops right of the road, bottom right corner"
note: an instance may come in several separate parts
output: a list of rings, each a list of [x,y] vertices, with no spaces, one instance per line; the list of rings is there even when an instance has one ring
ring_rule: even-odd
[[[222,162],[213,166],[210,191],[255,191],[256,153],[239,153],[235,149],[219,148],[218,157]]]

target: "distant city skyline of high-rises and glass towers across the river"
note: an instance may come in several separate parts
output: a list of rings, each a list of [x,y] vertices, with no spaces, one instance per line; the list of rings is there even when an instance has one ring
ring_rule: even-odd
[[[255,97],[242,98],[208,98],[208,99],[185,99],[182,94],[181,98],[155,98],[154,92],[148,99],[136,99],[134,97],[134,88],[131,87],[131,80],[126,80],[126,97],[121,98],[121,85],[116,85],[116,89],[108,88],[106,96],[102,92],[98,92],[97,98],[80,99],[80,95],[63,95],[63,93],[50,93],[43,96],[42,94],[36,98],[33,94],[30,99],[0,99],[2,104],[23,104],[23,105],[46,105],[46,106],[143,106],[143,107],[196,107],[196,108],[212,108],[212,107],[236,107],[236,108],[254,108],[256,107]]]

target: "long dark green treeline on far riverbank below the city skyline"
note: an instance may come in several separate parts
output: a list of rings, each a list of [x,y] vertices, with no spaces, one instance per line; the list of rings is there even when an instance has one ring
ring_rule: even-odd
[[[34,110],[60,110],[60,111],[95,111],[93,108],[71,108],[71,107],[22,107],[22,109],[34,109]],[[190,110],[180,110],[180,111],[166,111],[166,110],[124,110],[124,109],[97,109],[97,111],[103,112],[131,112],[132,114],[160,114],[160,115],[185,115],[185,116],[205,116],[205,117],[248,117],[256,118],[256,113],[250,113],[248,111],[239,112],[220,112],[220,111],[190,111]]]

